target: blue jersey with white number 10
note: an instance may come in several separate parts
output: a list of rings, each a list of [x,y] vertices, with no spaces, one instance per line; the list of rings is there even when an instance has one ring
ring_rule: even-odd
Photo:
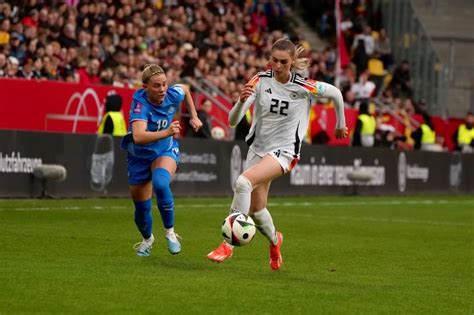
[[[160,105],[150,103],[144,89],[136,91],[133,94],[132,106],[130,108],[130,127],[128,134],[122,139],[122,149],[144,159],[155,159],[162,153],[170,150],[174,143],[171,136],[147,144],[135,144],[132,136],[132,123],[137,120],[146,121],[147,131],[167,129],[183,100],[184,91],[179,85],[173,85],[168,88]]]

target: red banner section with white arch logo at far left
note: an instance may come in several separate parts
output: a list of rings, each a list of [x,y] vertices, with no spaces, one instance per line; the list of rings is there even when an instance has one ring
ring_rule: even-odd
[[[108,94],[123,97],[128,112],[134,90],[58,81],[0,79],[0,129],[96,133]]]

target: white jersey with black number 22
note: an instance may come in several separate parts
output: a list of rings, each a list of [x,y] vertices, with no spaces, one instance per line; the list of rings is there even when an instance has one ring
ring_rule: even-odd
[[[260,156],[283,150],[298,159],[311,104],[323,94],[325,85],[294,72],[287,83],[280,83],[272,70],[258,73],[249,83],[255,87],[255,93],[244,103],[244,107],[254,104],[252,126],[246,137],[250,149]]]

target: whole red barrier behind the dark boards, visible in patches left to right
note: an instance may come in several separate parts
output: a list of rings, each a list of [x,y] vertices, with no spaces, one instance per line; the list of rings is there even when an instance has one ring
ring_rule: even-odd
[[[128,122],[128,114],[134,90],[113,86],[83,85],[58,81],[35,81],[23,79],[0,79],[0,129],[52,131],[63,133],[96,133],[105,111],[104,100],[108,94],[119,94],[123,98],[122,112]],[[203,102],[196,97],[196,106]],[[229,109],[232,104],[220,101]],[[346,123],[352,133],[357,111],[345,109]],[[227,124],[227,113],[213,107],[213,125]],[[416,117],[415,117],[416,118]],[[459,119],[442,120],[433,117],[436,132],[444,138],[444,145],[453,148],[451,137]],[[388,117],[385,123],[393,125],[401,134],[405,126]],[[330,106],[313,106],[309,135],[326,131],[330,145],[348,145],[350,138],[337,140],[333,131],[336,124],[334,109]]]

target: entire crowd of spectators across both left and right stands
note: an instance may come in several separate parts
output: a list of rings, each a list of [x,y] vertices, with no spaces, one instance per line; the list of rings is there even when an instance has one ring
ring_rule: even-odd
[[[413,117],[426,117],[426,104],[412,98],[410,65],[394,60],[372,2],[341,1],[350,63],[340,73],[334,1],[287,3],[304,7],[328,47],[300,38],[281,0],[0,1],[0,77],[133,88],[143,66],[157,63],[171,83],[205,79],[236,101],[242,85],[267,67],[272,43],[288,36],[307,48],[307,76],[338,85],[347,107],[364,104],[375,116],[373,145],[413,147],[412,132],[424,122]],[[404,124],[402,133],[393,119]]]

